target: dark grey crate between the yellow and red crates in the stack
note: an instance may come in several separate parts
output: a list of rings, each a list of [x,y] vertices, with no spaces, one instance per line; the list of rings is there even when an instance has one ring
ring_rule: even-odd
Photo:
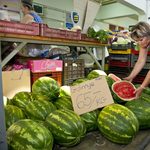
[[[109,54],[109,59],[119,61],[131,61],[131,54]]]

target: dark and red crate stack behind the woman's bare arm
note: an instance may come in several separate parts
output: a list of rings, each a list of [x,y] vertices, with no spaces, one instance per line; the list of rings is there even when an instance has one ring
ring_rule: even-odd
[[[132,49],[132,57],[131,57],[131,68],[133,69],[135,66],[135,63],[137,62],[139,57],[139,51],[135,51],[135,49]],[[147,53],[147,60],[146,64],[143,67],[143,69],[139,72],[139,74],[133,79],[133,82],[135,83],[142,83],[145,79],[145,76],[150,68],[150,52]]]

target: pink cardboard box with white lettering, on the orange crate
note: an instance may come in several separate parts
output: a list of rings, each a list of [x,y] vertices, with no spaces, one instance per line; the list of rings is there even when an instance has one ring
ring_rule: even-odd
[[[50,71],[62,71],[63,68],[62,60],[29,60],[27,67],[30,68],[31,72],[50,72]]]

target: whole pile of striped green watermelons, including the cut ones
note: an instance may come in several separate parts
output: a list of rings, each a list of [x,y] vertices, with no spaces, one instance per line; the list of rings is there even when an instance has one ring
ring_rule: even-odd
[[[87,78],[77,79],[72,86],[100,76],[105,76],[114,104],[82,115],[74,112],[70,86],[60,87],[50,77],[37,79],[32,92],[18,92],[11,100],[4,97],[8,148],[52,150],[55,143],[71,147],[95,130],[114,143],[128,144],[139,129],[149,129],[149,88],[139,100],[134,100],[133,91],[140,85],[102,70],[91,71]]]

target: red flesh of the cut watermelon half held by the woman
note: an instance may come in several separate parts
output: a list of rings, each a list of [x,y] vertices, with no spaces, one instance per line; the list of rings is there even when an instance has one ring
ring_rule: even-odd
[[[115,84],[113,86],[113,91],[122,99],[132,99],[135,97],[135,94],[133,93],[135,88],[127,81],[121,81]]]

